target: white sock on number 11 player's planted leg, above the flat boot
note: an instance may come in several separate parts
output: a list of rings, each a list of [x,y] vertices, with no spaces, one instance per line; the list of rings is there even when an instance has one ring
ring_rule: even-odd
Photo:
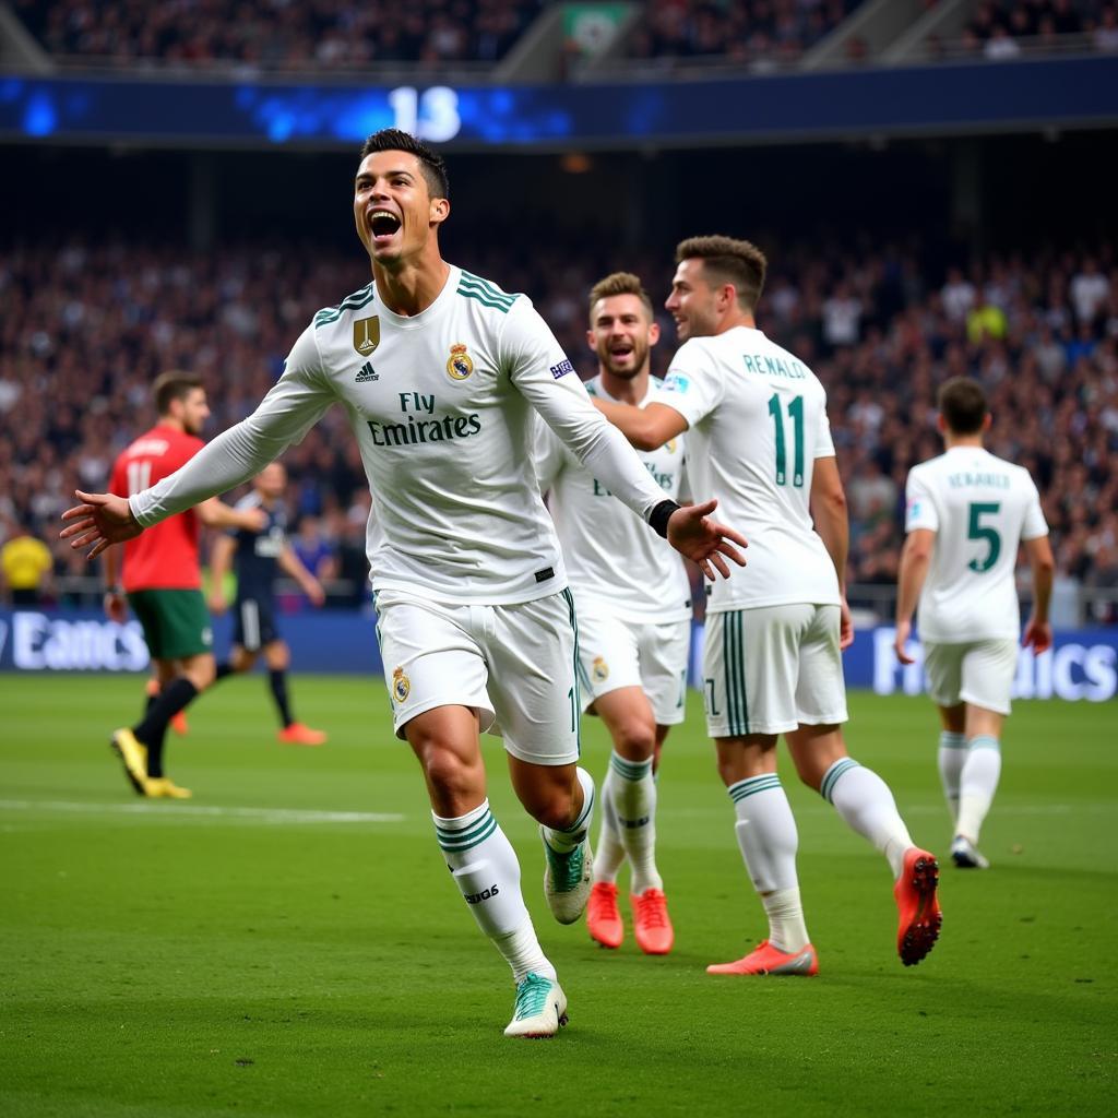
[[[796,877],[799,833],[780,778],[775,773],[751,776],[727,792],[738,816],[733,831],[746,870],[769,918],[769,942],[781,951],[798,951],[809,942]]]

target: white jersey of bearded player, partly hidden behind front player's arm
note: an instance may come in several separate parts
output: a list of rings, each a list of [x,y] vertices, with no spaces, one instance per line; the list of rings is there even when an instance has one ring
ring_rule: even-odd
[[[661,381],[650,378],[641,407],[660,398]],[[600,378],[587,381],[591,396],[612,400]],[[639,624],[667,624],[691,617],[691,586],[683,560],[646,522],[623,509],[609,490],[555,434],[537,424],[536,473],[559,532],[567,575],[580,609],[588,598],[605,599],[618,617]],[[680,500],[684,439],[637,452],[665,498]]]

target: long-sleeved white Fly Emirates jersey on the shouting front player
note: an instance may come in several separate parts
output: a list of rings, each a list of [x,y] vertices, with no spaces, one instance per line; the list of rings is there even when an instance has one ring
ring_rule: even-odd
[[[637,515],[664,500],[531,301],[452,267],[411,318],[385,306],[371,283],[320,311],[253,415],[189,470],[132,498],[136,519],[154,523],[252,476],[335,402],[372,493],[377,590],[508,605],[566,587],[532,468],[533,408]]]

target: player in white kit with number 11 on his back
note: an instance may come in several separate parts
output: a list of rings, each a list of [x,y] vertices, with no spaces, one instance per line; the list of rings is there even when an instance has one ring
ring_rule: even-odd
[[[663,397],[643,409],[595,402],[638,447],[686,430],[693,484],[749,528],[749,569],[716,586],[707,606],[703,674],[707,728],[769,937],[708,970],[818,970],[799,899],[796,823],[777,776],[781,733],[800,778],[889,860],[898,953],[906,966],[919,963],[941,922],[936,859],[912,843],[884,781],[847,757],[841,730],[840,650],[853,639],[847,521],[823,386],[756,326],[766,259],[754,245],[694,237],[675,259],[665,305],[683,345]]]

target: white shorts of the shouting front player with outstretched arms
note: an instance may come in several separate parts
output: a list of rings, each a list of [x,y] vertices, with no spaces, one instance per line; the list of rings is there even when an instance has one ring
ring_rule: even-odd
[[[513,757],[569,765],[579,756],[578,627],[569,590],[512,606],[376,596],[392,727],[436,707],[470,707]]]

